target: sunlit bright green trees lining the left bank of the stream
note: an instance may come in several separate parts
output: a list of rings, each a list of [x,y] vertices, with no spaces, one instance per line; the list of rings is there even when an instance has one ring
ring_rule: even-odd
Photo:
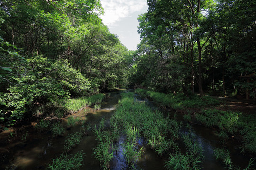
[[[103,13],[100,0],[1,0],[1,123],[128,84],[132,51],[102,23]]]

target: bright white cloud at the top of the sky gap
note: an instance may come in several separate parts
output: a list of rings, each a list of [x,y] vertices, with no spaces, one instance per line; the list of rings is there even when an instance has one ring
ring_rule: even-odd
[[[105,14],[101,16],[103,23],[109,27],[124,17],[142,10],[146,0],[101,0]]]

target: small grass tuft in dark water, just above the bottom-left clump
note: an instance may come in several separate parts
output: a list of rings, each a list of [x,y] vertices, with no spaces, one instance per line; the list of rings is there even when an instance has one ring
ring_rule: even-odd
[[[79,144],[82,140],[82,133],[80,132],[75,132],[73,134],[69,134],[66,137],[65,140],[65,150],[68,152],[70,151],[73,147],[76,146],[76,144]]]

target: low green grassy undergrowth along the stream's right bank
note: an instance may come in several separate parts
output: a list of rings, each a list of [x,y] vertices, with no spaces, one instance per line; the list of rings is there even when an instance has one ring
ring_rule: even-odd
[[[210,109],[210,106],[220,104],[218,100],[213,99],[210,96],[200,98],[199,96],[194,95],[188,98],[183,94],[174,96],[145,89],[136,89],[135,93],[138,93],[143,97],[150,97],[160,106],[169,106],[173,109],[183,109],[187,111],[188,114],[184,115],[185,120],[192,122],[194,119],[207,127],[216,128],[215,135],[223,142],[227,142],[232,136],[240,136],[241,151],[256,154],[255,115],[245,115],[233,111]],[[194,115],[190,114],[190,110],[187,108],[191,107],[201,108],[201,111]]]

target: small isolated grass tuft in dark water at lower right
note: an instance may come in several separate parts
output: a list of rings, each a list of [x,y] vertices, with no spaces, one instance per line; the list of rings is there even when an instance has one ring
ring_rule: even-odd
[[[231,161],[230,152],[228,151],[228,149],[225,150],[216,148],[213,151],[213,154],[217,160],[221,160],[226,166],[228,166],[229,169],[233,169],[233,163]]]

